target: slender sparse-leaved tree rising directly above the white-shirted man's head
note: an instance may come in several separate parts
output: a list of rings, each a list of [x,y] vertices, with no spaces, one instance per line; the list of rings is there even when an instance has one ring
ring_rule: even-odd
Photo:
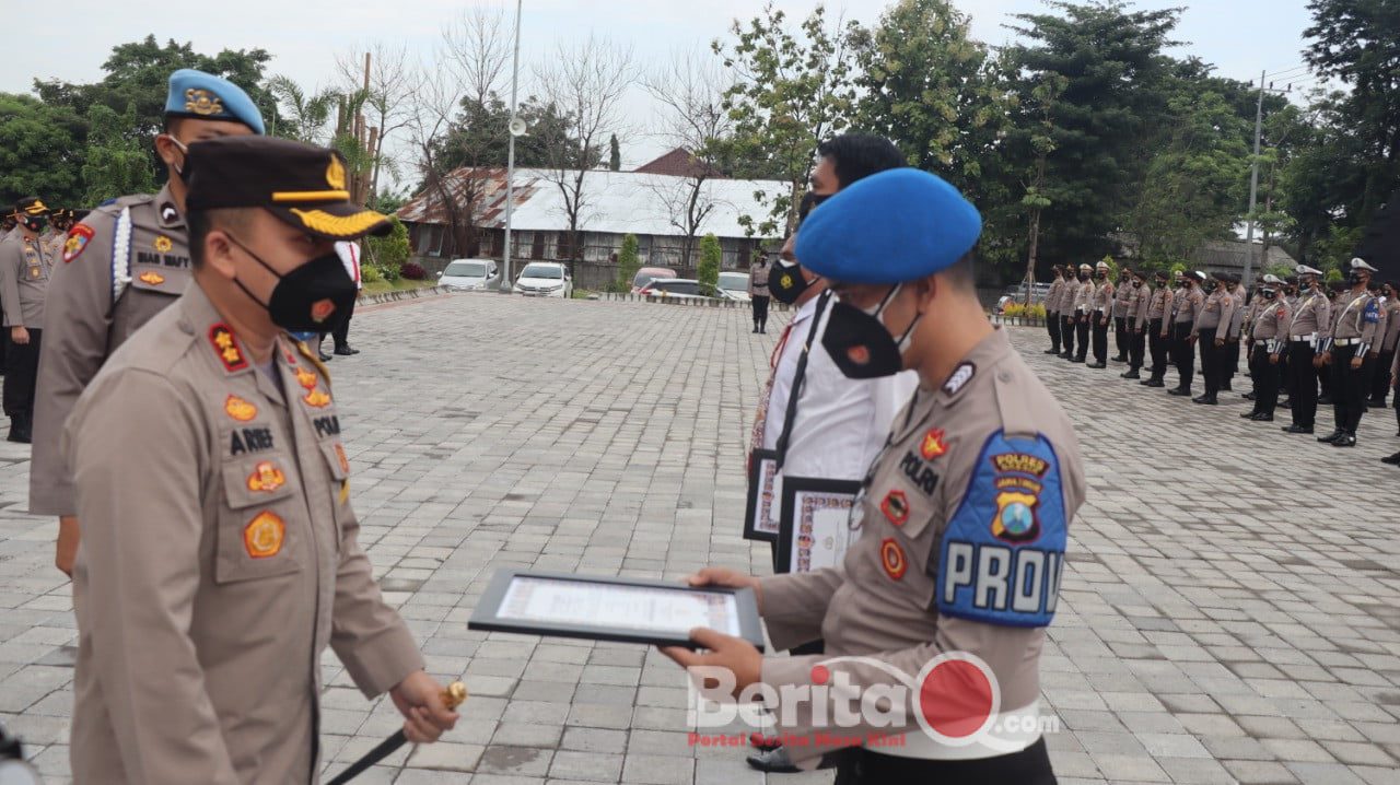
[[[781,193],[755,193],[769,207],[766,215],[739,218],[750,236],[777,236],[797,222],[816,146],[850,125],[851,29],[832,28],[818,6],[794,32],[770,1],[748,24],[735,20],[731,34],[732,42],[713,43],[735,77],[724,94],[734,134],[721,158],[787,183]]]

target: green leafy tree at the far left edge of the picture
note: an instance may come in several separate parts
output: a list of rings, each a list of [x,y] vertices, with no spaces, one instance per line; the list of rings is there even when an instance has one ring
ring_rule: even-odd
[[[0,206],[39,196],[50,206],[81,206],[87,123],[69,106],[0,92]]]

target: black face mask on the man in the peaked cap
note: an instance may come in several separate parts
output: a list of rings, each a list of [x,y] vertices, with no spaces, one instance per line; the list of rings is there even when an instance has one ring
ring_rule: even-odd
[[[267,309],[273,325],[291,333],[328,333],[337,327],[344,313],[350,311],[356,295],[354,281],[346,274],[344,264],[340,263],[340,256],[335,250],[325,256],[316,256],[281,276],[256,253],[248,250],[246,245],[237,239],[234,239],[234,245],[242,248],[269,273],[277,276],[277,285],[272,288],[272,298],[267,302],[253,297],[253,292],[248,291],[242,281],[234,278],[244,294]]]

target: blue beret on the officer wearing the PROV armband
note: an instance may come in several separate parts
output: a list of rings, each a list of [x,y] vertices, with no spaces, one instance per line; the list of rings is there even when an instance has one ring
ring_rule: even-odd
[[[833,281],[897,284],[951,267],[980,234],[981,215],[958,189],[918,169],[888,169],[813,210],[794,252]]]

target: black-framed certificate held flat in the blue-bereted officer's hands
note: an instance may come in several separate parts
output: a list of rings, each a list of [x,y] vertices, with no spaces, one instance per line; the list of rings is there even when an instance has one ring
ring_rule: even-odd
[[[752,589],[668,581],[501,570],[466,623],[468,630],[686,648],[696,648],[694,627],[763,651]]]

